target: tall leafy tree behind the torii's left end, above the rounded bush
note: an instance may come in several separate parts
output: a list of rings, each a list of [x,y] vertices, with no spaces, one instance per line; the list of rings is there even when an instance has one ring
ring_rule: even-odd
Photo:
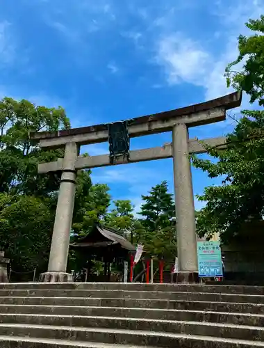
[[[0,192],[43,196],[58,189],[56,173],[38,174],[38,163],[54,161],[63,150],[41,150],[30,139],[31,132],[69,128],[65,111],[35,106],[27,100],[0,101]]]

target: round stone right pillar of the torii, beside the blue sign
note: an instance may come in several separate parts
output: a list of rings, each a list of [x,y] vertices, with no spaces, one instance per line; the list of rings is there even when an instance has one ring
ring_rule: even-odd
[[[197,237],[192,173],[188,149],[188,127],[184,123],[172,129],[174,193],[179,273],[177,283],[198,283]]]

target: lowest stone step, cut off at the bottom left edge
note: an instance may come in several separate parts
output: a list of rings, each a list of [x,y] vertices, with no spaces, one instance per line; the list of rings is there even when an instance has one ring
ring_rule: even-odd
[[[142,346],[131,345],[108,345],[107,343],[97,342],[77,342],[69,340],[51,340],[45,338],[30,337],[11,337],[0,336],[1,348],[146,348]],[[151,347],[148,347],[151,348]],[[152,347],[154,348],[154,347]]]

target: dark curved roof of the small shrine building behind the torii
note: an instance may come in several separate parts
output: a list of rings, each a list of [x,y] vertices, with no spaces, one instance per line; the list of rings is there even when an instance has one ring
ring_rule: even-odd
[[[125,248],[128,251],[135,251],[135,246],[131,244],[125,237],[119,235],[112,228],[102,225],[94,226],[94,229],[85,237],[78,239],[76,242],[69,244],[72,247],[87,247],[87,248],[106,248],[107,246],[117,245]]]

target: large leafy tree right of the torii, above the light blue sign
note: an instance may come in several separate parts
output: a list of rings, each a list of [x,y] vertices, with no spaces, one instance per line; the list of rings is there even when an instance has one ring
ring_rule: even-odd
[[[226,150],[207,149],[217,163],[192,157],[192,164],[209,177],[223,177],[222,185],[206,187],[197,196],[206,201],[197,216],[197,232],[220,232],[225,242],[247,219],[261,219],[264,213],[264,111],[242,111],[242,116],[227,137]]]

